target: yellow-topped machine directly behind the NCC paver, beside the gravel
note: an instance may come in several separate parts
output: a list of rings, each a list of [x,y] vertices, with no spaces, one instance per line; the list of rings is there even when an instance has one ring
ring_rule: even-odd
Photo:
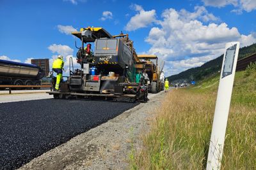
[[[156,55],[138,55],[140,62],[145,64],[144,73],[148,76],[148,92],[156,94],[161,90],[164,90],[163,67],[164,62],[159,64],[158,57]]]

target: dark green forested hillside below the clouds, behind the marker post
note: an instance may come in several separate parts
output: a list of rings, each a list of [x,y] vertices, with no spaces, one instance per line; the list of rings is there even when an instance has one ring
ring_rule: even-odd
[[[256,43],[250,46],[244,46],[243,48],[240,48],[238,59],[243,59],[244,57],[248,57],[253,53],[256,53]],[[186,71],[183,71],[179,74],[169,76],[168,80],[169,81],[202,80],[203,78],[220,71],[222,59],[223,59],[223,55],[221,55],[220,57],[217,57],[216,59],[210,60],[209,62],[205,62],[205,64],[203,64],[200,67],[187,69]]]

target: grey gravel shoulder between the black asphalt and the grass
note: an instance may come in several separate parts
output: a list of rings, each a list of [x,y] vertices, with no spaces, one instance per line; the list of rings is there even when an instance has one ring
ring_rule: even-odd
[[[129,169],[132,145],[141,147],[141,133],[148,131],[164,92],[105,124],[70,139],[20,169]]]

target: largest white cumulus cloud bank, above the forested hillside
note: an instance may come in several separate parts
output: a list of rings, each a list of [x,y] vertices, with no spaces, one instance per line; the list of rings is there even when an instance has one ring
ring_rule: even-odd
[[[158,27],[152,27],[145,41],[151,45],[150,54],[166,60],[166,76],[177,74],[190,67],[201,66],[220,56],[225,43],[240,41],[241,46],[256,43],[255,34],[240,34],[236,27],[228,27],[225,22],[196,6],[195,11],[164,10]]]

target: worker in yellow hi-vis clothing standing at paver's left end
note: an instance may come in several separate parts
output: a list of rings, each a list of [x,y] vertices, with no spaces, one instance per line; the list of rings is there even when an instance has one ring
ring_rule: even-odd
[[[58,55],[58,59],[54,60],[52,64],[52,71],[57,73],[55,90],[59,90],[60,80],[62,78],[62,70],[64,70],[63,66],[64,66],[63,57],[62,55]]]

